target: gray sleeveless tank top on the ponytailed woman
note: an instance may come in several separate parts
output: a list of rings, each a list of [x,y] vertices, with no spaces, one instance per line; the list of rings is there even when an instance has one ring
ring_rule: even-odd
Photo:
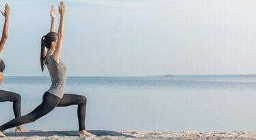
[[[44,64],[47,66],[51,76],[51,87],[47,92],[62,98],[66,87],[66,65],[61,60],[60,63],[57,63],[53,59],[53,55],[47,55],[44,59]]]

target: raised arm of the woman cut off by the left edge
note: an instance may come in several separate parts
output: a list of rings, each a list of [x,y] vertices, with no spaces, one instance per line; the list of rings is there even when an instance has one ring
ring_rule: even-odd
[[[9,28],[10,7],[7,3],[5,4],[5,11],[4,12],[1,11],[1,13],[5,17],[5,22],[3,25],[2,38],[0,40],[0,52],[3,50],[3,47],[5,46],[5,42],[8,38],[8,32],[9,32],[8,28]]]

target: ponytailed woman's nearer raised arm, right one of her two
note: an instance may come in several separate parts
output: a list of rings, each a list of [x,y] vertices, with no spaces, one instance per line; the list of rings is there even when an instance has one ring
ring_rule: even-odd
[[[53,53],[53,57],[57,63],[60,62],[60,53],[62,51],[62,42],[64,38],[64,14],[65,14],[65,5],[63,1],[60,2],[59,6],[59,12],[60,12],[60,25],[59,30],[57,31],[58,39],[57,39],[57,45],[55,48],[55,51]]]

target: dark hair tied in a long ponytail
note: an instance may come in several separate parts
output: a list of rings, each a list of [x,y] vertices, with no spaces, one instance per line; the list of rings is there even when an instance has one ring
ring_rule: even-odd
[[[45,59],[45,48],[51,48],[51,43],[57,40],[57,33],[51,31],[47,35],[42,36],[41,38],[41,55],[40,55],[40,64],[42,72],[44,71],[44,59]]]

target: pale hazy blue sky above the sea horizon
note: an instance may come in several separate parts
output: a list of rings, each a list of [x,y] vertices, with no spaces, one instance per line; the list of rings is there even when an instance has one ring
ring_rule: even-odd
[[[10,4],[5,75],[40,71],[40,38],[55,0]],[[255,74],[254,0],[65,0],[62,61],[68,76]],[[0,17],[0,29],[3,26]],[[58,27],[59,15],[56,20]]]

